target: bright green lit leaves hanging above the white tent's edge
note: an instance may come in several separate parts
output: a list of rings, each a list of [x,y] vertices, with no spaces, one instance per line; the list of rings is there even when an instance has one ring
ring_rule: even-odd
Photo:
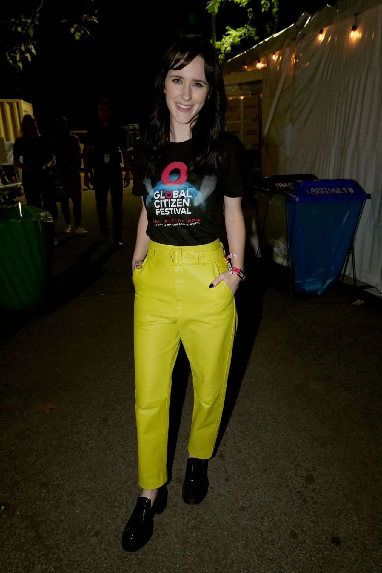
[[[241,8],[245,8],[247,11],[247,23],[241,28],[231,28],[231,26],[226,26],[226,32],[223,34],[221,40],[215,42],[216,48],[219,50],[220,60],[224,60],[226,54],[231,52],[233,46],[237,46],[244,38],[252,38],[253,40],[258,40],[257,29],[254,26],[253,21],[253,4],[254,0],[209,0],[207,2],[206,9],[212,15],[212,18],[216,17],[220,6],[224,2],[234,2],[238,4]],[[261,3],[261,11],[263,13],[268,13],[270,11],[272,18],[267,23],[267,32],[275,32],[277,26],[277,15],[279,9],[279,0],[255,0]]]

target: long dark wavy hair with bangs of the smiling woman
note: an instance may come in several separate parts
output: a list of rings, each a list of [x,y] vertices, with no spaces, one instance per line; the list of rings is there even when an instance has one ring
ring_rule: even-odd
[[[208,95],[202,109],[191,125],[191,162],[189,168],[192,170],[203,166],[206,172],[214,172],[222,162],[218,150],[218,141],[225,130],[227,108],[222,68],[218,53],[211,42],[203,36],[189,34],[172,43],[163,58],[162,69],[155,81],[154,111],[145,139],[145,143],[152,151],[151,158],[146,164],[149,176],[155,171],[170,139],[170,112],[164,93],[167,73],[170,69],[185,68],[196,56],[201,56],[204,60]]]

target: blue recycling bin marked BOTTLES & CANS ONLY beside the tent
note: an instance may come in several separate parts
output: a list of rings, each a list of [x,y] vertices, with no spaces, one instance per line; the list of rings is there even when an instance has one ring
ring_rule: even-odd
[[[298,291],[322,295],[344,266],[371,196],[352,179],[299,181],[284,194],[294,282]]]

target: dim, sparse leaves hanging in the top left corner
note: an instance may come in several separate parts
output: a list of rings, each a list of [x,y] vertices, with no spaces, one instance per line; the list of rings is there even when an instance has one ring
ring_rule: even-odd
[[[49,6],[45,0],[39,0],[38,4],[34,9],[29,6],[23,14],[15,18],[0,21],[0,36],[2,44],[5,45],[7,61],[17,70],[22,70],[23,65],[36,56],[39,28]],[[60,15],[59,22],[75,40],[89,36],[90,26],[98,23],[98,10],[94,0],[77,2],[76,10],[72,9],[70,2],[61,2],[59,8],[57,10],[57,14]]]

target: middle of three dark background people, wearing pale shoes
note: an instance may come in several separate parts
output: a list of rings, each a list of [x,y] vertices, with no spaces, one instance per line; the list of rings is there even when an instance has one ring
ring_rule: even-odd
[[[57,160],[57,176],[65,191],[64,197],[61,197],[61,210],[66,223],[64,233],[70,233],[72,231],[69,209],[69,199],[72,199],[76,235],[87,235],[88,231],[85,231],[85,229],[81,227],[82,183],[80,174],[80,140],[70,131],[66,117],[60,117],[57,121],[52,138],[52,148]]]

